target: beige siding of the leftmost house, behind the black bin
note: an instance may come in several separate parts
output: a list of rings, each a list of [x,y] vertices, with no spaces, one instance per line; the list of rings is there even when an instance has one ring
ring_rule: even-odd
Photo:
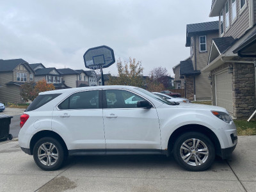
[[[15,74],[16,77],[16,74]],[[0,101],[1,102],[12,102],[21,103],[20,97],[20,86],[17,85],[6,85],[6,83],[13,81],[13,72],[1,72],[0,73]]]

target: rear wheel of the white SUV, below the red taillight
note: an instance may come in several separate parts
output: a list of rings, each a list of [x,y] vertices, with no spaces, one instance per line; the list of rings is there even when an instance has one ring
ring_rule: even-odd
[[[45,146],[45,148],[43,146]],[[45,150],[43,150],[43,148]],[[47,152],[45,153],[45,151]],[[39,156],[42,159],[39,159]],[[45,137],[36,142],[33,148],[33,157],[39,168],[45,171],[53,171],[58,170],[63,165],[65,160],[65,151],[58,140]]]

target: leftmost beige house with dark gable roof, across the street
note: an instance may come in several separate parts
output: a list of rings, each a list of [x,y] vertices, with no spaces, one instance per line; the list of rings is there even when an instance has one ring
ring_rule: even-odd
[[[17,60],[0,60],[1,102],[24,102],[20,96],[20,85],[34,81],[35,72],[28,62]]]

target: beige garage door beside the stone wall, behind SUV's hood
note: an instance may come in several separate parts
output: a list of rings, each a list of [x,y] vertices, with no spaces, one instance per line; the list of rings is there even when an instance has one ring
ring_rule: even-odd
[[[232,102],[232,74],[228,71],[215,75],[216,85],[216,105],[226,108],[229,113],[233,114]]]

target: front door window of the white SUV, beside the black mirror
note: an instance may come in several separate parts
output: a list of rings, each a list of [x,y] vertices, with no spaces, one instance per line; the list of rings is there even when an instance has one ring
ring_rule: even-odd
[[[145,99],[125,90],[106,90],[108,108],[137,108],[139,100]]]

